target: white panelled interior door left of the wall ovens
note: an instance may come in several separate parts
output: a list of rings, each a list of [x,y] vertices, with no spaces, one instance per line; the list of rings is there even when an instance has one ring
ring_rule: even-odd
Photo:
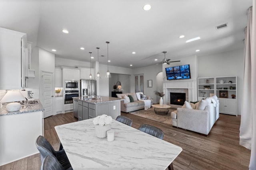
[[[53,73],[42,71],[42,105],[44,106],[44,118],[54,113],[54,82]]]

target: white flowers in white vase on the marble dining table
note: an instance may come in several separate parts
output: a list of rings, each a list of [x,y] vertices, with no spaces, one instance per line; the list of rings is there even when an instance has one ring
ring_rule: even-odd
[[[111,129],[112,117],[104,114],[95,117],[92,122],[95,125],[96,136],[99,138],[107,137],[107,131]]]

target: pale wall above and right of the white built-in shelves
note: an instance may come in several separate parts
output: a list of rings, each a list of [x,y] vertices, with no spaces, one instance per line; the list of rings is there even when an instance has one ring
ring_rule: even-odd
[[[237,76],[237,107],[241,115],[244,49],[198,57],[198,77]]]

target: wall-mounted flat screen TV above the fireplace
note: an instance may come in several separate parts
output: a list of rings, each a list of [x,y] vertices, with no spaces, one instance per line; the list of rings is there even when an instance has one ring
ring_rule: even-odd
[[[165,68],[167,80],[188,79],[190,76],[189,64]]]

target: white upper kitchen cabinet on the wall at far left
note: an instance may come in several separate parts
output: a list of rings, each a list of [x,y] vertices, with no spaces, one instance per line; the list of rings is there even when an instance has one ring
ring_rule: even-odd
[[[0,28],[0,37],[0,90],[22,89],[26,86],[26,34]]]

